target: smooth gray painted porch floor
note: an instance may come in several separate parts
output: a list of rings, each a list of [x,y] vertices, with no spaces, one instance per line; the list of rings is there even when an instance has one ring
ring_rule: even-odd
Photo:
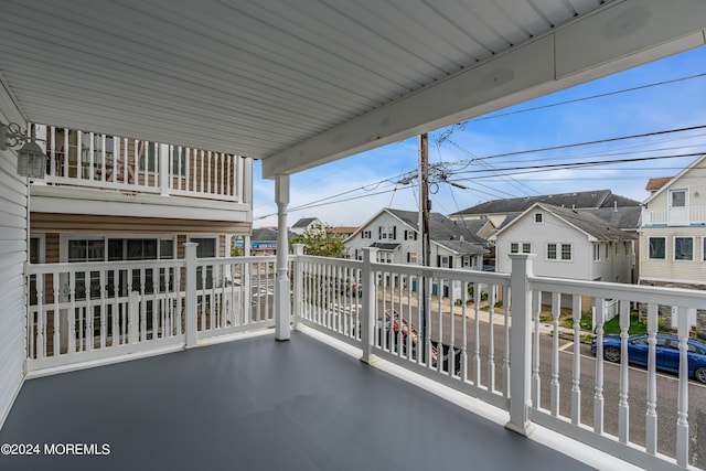
[[[298,332],[28,381],[0,443],[41,451],[3,471],[590,469]]]

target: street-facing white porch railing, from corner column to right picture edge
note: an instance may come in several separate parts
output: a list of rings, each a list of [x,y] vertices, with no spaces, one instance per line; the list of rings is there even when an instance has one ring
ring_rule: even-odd
[[[296,322],[359,346],[363,360],[382,357],[507,410],[514,430],[528,432],[537,424],[645,469],[688,467],[689,441],[699,428],[689,428],[689,417],[700,417],[688,399],[703,394],[700,386],[689,390],[688,314],[706,306],[706,292],[541,278],[532,275],[527,256],[514,257],[513,272],[505,275],[376,264],[372,253],[363,261],[298,255]],[[352,281],[362,288],[350,290]],[[549,304],[542,306],[543,293]],[[584,334],[581,310],[590,309],[582,300],[591,298],[597,307],[595,358],[571,345],[561,349],[569,342],[559,336],[565,297],[571,300],[569,332],[577,344]],[[631,371],[627,353],[620,365],[603,360],[606,299],[620,307],[622,352],[628,351],[631,303],[646,306],[646,372]],[[659,306],[675,306],[678,312],[676,377],[656,371]],[[548,330],[539,321],[543,311],[550,312]],[[617,376],[610,384],[607,368]],[[657,399],[665,387],[676,389],[673,406]],[[644,433],[630,433],[637,424]]]

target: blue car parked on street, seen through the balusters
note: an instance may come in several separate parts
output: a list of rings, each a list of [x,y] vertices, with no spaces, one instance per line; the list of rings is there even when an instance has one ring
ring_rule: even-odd
[[[656,367],[671,373],[680,370],[680,339],[676,335],[656,335]],[[620,362],[620,335],[603,335],[603,358]],[[699,383],[706,383],[706,343],[696,339],[687,341],[688,375]],[[648,335],[632,335],[628,339],[628,361],[648,366]],[[591,343],[591,352],[596,354],[596,338]]]

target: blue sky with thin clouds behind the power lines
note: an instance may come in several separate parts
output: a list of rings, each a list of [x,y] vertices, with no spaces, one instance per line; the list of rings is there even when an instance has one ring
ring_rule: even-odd
[[[696,157],[600,164],[582,169],[537,169],[515,173],[518,167],[608,161],[706,152],[706,128],[602,144],[522,153],[549,147],[612,139],[706,125],[706,76],[646,87],[578,103],[526,110],[578,98],[706,74],[706,47],[600,78],[563,92],[470,120],[438,142],[446,129],[429,133],[429,161],[443,167],[448,183],[431,185],[432,211],[450,214],[483,201],[536,194],[609,189],[644,201],[648,180],[678,173]],[[498,116],[505,115],[505,116]],[[610,154],[610,156],[608,156]],[[474,158],[481,160],[470,162]],[[450,162],[459,162],[450,164]],[[330,225],[357,226],[382,207],[417,211],[417,181],[396,183],[418,164],[417,138],[363,152],[291,176],[289,224],[318,217]],[[254,227],[276,225],[274,182],[260,178],[255,162]],[[304,210],[330,196],[347,200]],[[334,200],[327,200],[329,203]],[[324,203],[324,202],[322,202]],[[268,217],[263,217],[267,216]]]

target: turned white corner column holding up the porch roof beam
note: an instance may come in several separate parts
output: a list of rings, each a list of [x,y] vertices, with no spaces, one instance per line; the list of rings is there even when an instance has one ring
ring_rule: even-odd
[[[287,239],[287,205],[289,204],[289,175],[275,179],[277,203],[277,281],[275,285],[275,338],[289,340],[291,301],[289,297],[289,240]]]

